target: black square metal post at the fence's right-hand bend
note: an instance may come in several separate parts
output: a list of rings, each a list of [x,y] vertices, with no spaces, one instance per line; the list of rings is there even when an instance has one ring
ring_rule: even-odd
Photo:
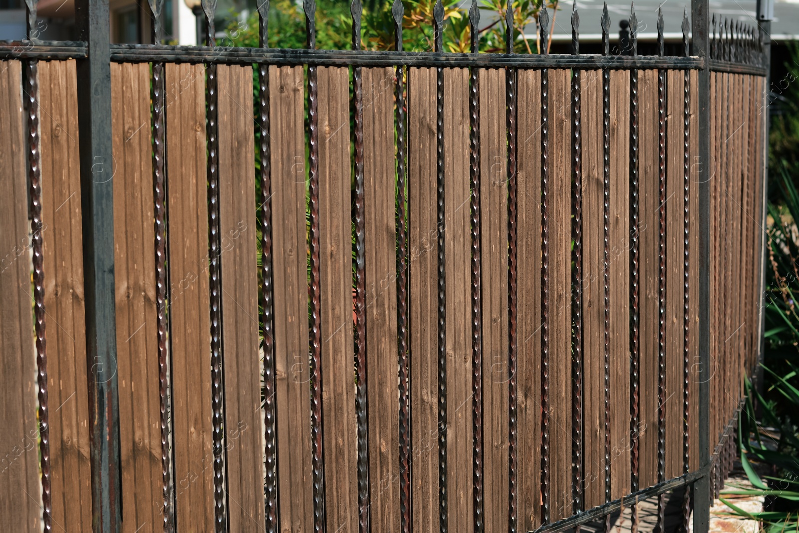
[[[702,60],[698,73],[699,165],[699,409],[697,451],[706,472],[694,482],[694,533],[710,525],[710,39],[708,0],[691,0],[693,55]]]

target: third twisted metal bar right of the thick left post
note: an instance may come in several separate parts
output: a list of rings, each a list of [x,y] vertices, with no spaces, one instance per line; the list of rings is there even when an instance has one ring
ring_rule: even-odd
[[[262,48],[268,47],[269,0],[257,3],[259,14],[259,40]],[[272,300],[272,155],[271,125],[269,123],[269,70],[268,65],[258,66],[258,121],[260,138],[260,221],[261,221],[261,278],[264,324],[264,437],[266,479],[264,483],[267,533],[276,533],[277,523],[277,443],[275,407],[274,359],[274,301]]]

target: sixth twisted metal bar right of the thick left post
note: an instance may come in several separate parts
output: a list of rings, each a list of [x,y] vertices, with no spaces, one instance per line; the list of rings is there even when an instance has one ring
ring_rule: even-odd
[[[392,18],[394,19],[394,47],[401,51],[402,21],[404,9],[402,0],[394,0]],[[411,531],[411,415],[410,400],[410,360],[407,354],[407,181],[405,176],[405,84],[403,66],[395,70],[396,85],[396,173],[397,173],[397,348],[400,364],[400,526],[402,533]]]

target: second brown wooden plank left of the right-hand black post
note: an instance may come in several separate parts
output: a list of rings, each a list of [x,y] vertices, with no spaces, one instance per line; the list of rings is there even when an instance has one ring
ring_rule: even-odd
[[[666,479],[682,473],[683,79],[666,74]]]

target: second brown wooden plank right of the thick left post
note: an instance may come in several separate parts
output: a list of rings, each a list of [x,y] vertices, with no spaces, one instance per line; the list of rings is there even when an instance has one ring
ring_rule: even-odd
[[[173,456],[181,530],[213,529],[205,69],[166,66]]]

